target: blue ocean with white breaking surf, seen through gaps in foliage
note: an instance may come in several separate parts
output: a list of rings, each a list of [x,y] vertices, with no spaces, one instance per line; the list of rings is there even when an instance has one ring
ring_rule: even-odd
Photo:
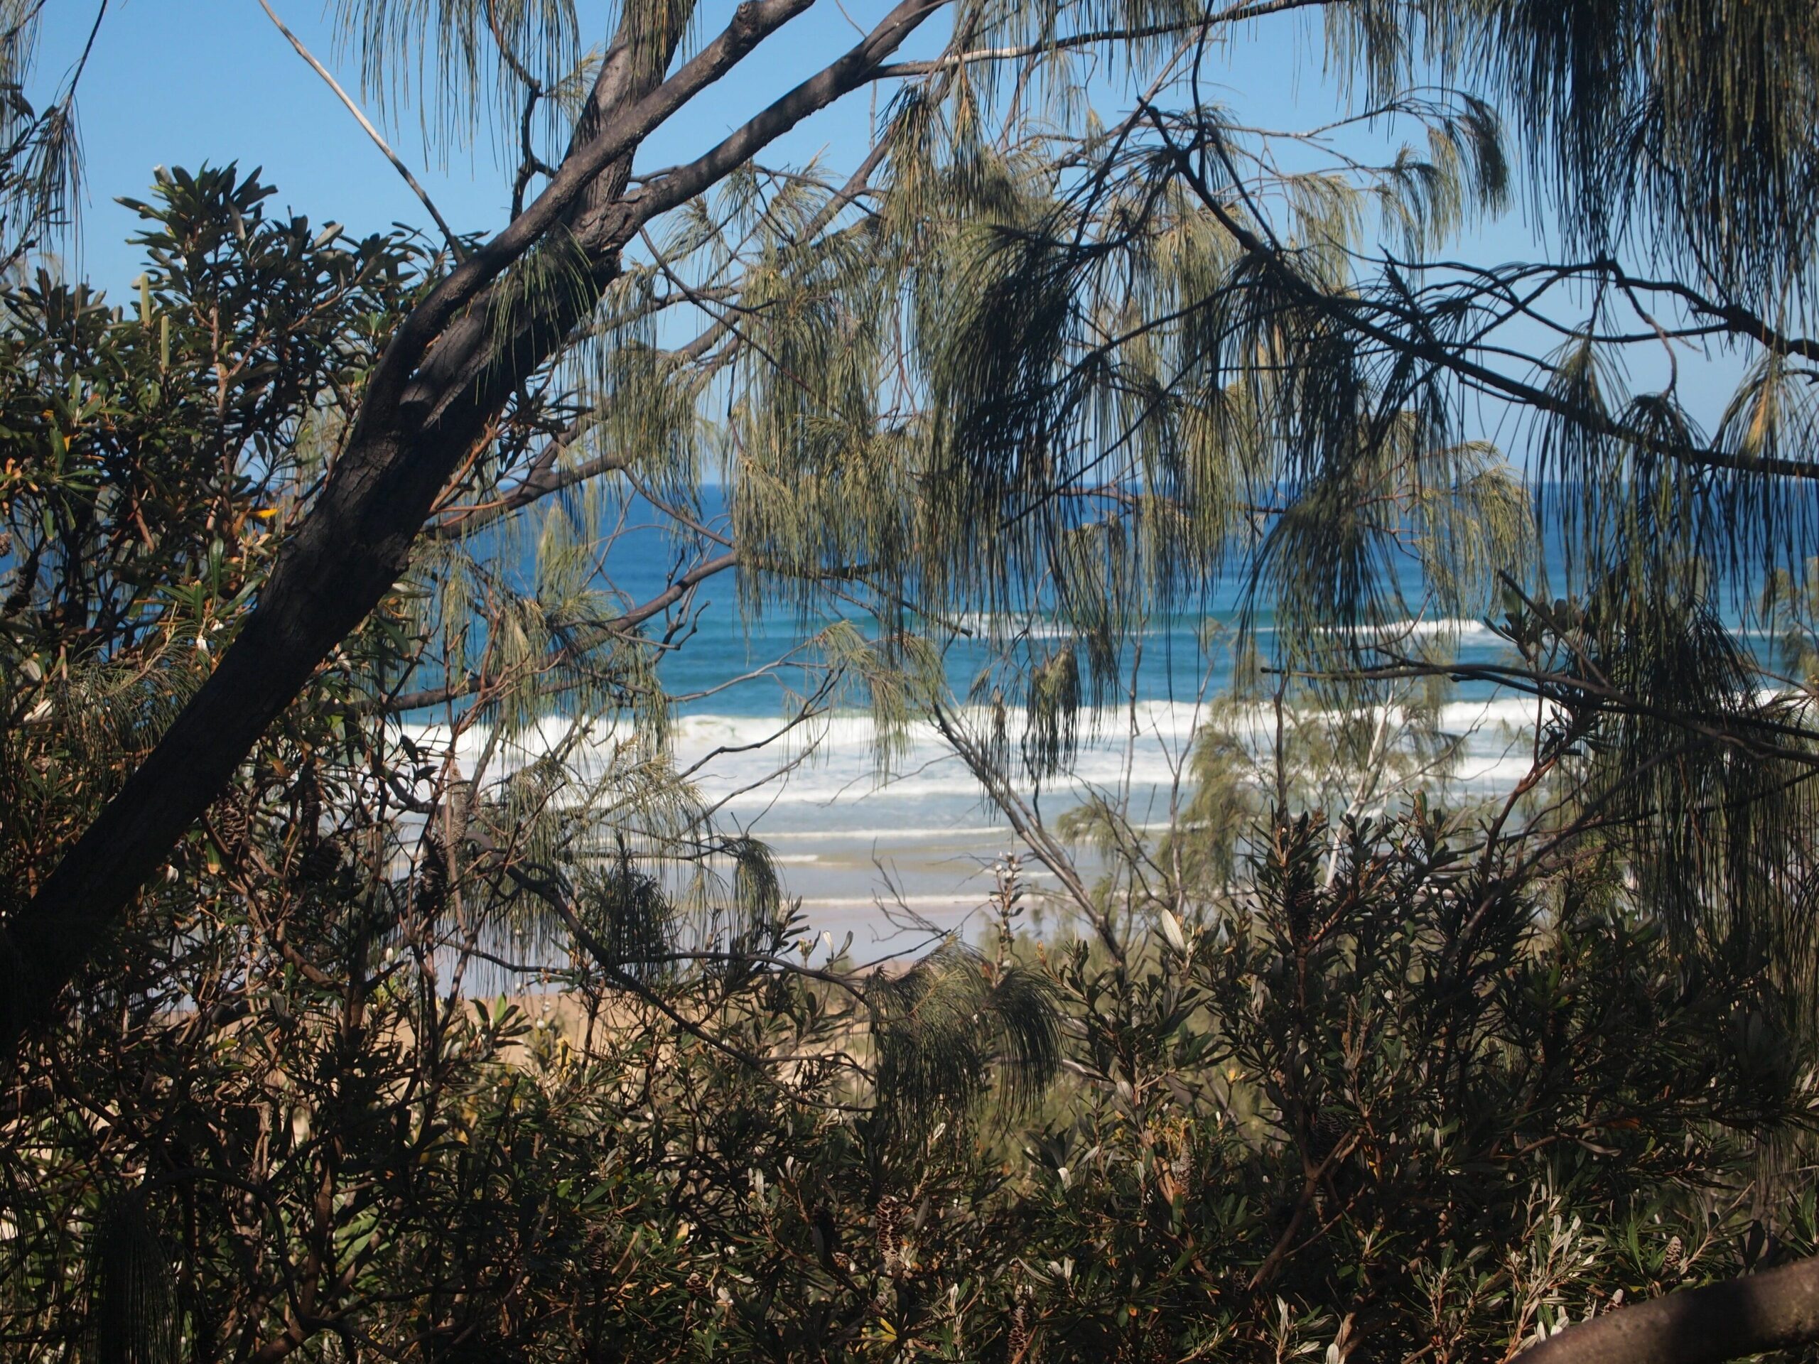
[[[700,515],[709,526],[724,518],[715,489],[704,496]],[[662,591],[678,562],[658,520],[657,515],[640,520],[633,507],[628,517],[633,529],[620,535],[606,560],[613,584],[631,604]],[[1552,553],[1557,555],[1557,546]],[[1419,584],[1404,584],[1404,595],[1419,600]],[[1734,624],[1743,626],[1735,606],[1743,595],[1730,593],[1728,600]],[[1044,787],[1020,784],[1044,820],[1053,822],[1097,789],[1122,793],[1133,824],[1166,824],[1171,798],[1186,795],[1179,778],[1191,738],[1231,682],[1230,651],[1202,647],[1206,626],[1211,620],[1230,633],[1242,609],[1244,584],[1222,582],[1191,609],[1175,609],[1144,627],[1135,687],[1115,704],[1082,713],[1071,777]],[[1259,647],[1268,651],[1275,629],[1271,604],[1253,600],[1250,609]],[[984,633],[991,622],[962,624]],[[1459,662],[1508,657],[1506,644],[1481,620],[1412,620],[1406,629],[1432,637],[1435,647]],[[715,806],[720,829],[766,842],[786,895],[800,900],[811,931],[826,931],[835,942],[851,935],[857,960],[899,951],[906,924],[970,937],[984,924],[993,868],[1010,853],[1024,853],[1024,877],[1040,917],[1044,888],[1053,886],[1053,877],[1026,855],[931,726],[910,726],[888,767],[877,760],[868,713],[842,711],[786,731],[791,691],[800,695],[809,678],[791,667],[748,675],[788,657],[802,633],[804,624],[788,606],[744,617],[728,573],[702,586],[682,646],[660,664],[666,687],[682,698],[673,727],[675,762],[693,769],[695,789]],[[982,658],[971,646],[953,651],[950,682],[959,695]],[[560,738],[575,720],[557,704],[517,755],[504,755],[506,766]],[[1271,715],[1259,706],[1228,709],[1222,724],[1251,751],[1262,751],[1273,733]],[[1486,684],[1459,684],[1441,709],[1442,731],[1464,740],[1446,780],[1448,798],[1457,804],[1510,789],[1528,769],[1533,724],[1532,698]],[[409,727],[418,742],[435,744],[440,735],[437,726]],[[1013,746],[1020,729],[1022,713],[1013,706],[1008,715]],[[466,737],[464,767],[471,769],[484,738],[484,731]],[[600,729],[591,742],[611,744],[613,733]],[[1388,806],[1393,809],[1404,798],[1392,795]],[[1090,855],[1082,855],[1082,869],[1088,878],[1095,871]]]

